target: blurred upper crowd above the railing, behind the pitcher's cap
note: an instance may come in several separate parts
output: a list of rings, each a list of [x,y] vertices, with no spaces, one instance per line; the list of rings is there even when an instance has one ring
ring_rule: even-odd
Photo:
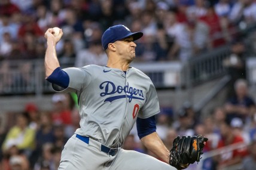
[[[105,64],[102,32],[124,24],[142,31],[136,61],[187,61],[236,40],[256,21],[254,0],[2,0],[0,59],[43,58],[44,32],[62,28],[61,61]]]

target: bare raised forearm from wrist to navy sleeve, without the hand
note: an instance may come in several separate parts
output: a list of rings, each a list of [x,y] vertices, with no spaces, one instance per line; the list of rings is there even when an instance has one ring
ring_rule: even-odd
[[[51,75],[51,73],[53,73],[53,71],[57,67],[60,67],[59,60],[56,54],[56,43],[54,42],[53,38],[47,39],[47,49],[45,52],[44,66],[45,66],[45,76],[47,78],[48,76]]]

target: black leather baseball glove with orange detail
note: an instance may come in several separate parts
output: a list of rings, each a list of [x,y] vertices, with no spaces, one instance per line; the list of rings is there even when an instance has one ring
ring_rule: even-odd
[[[199,162],[208,138],[203,135],[176,137],[170,150],[170,165],[185,169],[190,163]]]

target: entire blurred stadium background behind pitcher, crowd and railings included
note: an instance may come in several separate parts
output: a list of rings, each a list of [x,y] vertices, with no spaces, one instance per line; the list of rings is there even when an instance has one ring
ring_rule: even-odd
[[[209,138],[188,169],[256,167],[255,0],[1,0],[0,169],[57,169],[79,128],[75,94],[56,94],[44,75],[44,32],[62,28],[62,68],[105,66],[105,29],[142,31],[136,60],[157,88],[157,132]],[[124,149],[153,153],[133,128]]]

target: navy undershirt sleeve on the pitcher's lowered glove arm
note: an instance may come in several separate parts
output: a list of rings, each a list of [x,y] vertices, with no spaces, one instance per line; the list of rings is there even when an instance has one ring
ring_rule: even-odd
[[[139,139],[156,132],[157,129],[155,116],[146,119],[137,118],[136,125]]]

